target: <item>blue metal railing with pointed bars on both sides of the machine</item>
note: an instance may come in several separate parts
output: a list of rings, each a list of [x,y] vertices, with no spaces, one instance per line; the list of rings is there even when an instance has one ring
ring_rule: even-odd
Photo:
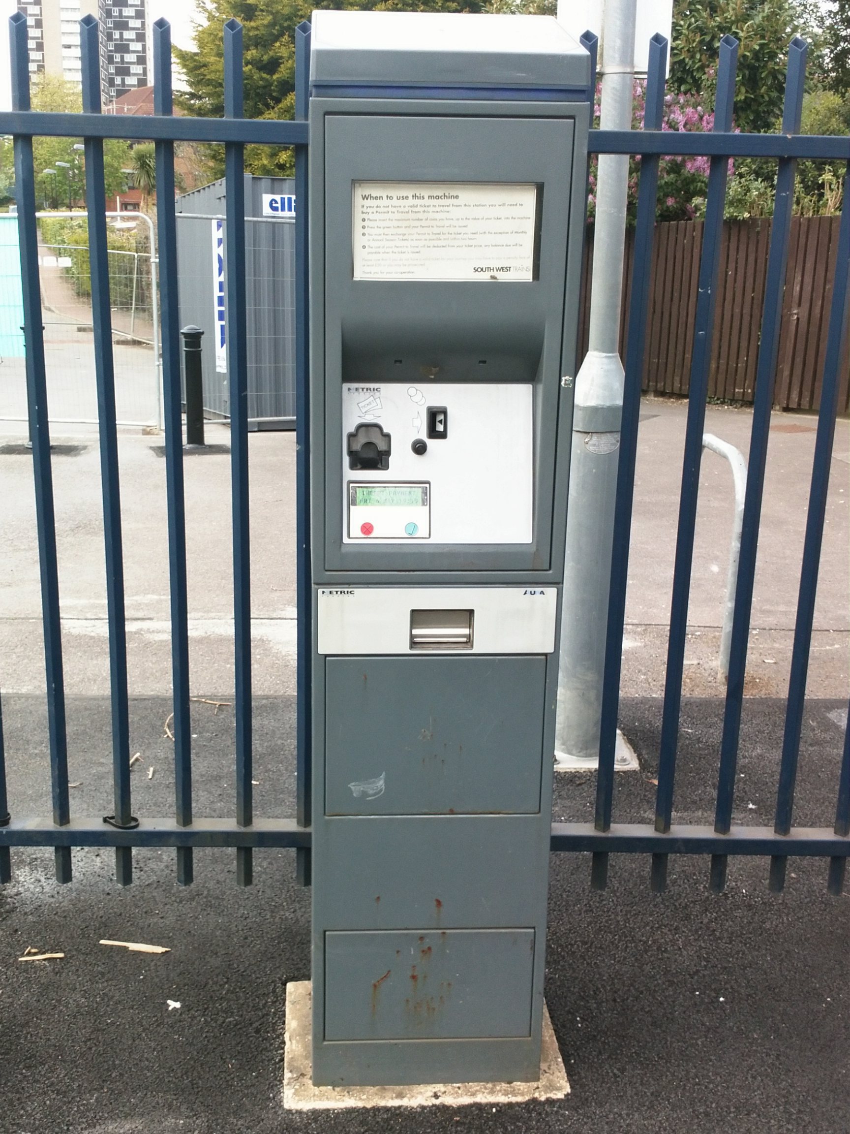
[[[167,20],[153,25],[154,115],[117,118],[101,113],[99,83],[99,25],[86,16],[80,22],[83,105],[82,115],[42,113],[29,109],[29,75],[26,17],[10,19],[12,110],[0,113],[0,133],[14,136],[18,230],[23,277],[26,335],[26,379],[29,432],[33,442],[36,526],[44,627],[50,769],[53,798],[52,822],[9,816],[6,787],[2,717],[0,716],[0,882],[10,878],[11,846],[52,846],[59,881],[71,877],[71,847],[116,848],[117,877],[131,880],[131,848],[175,847],[177,877],[193,880],[193,849],[226,846],[237,849],[237,879],[252,881],[255,847],[294,847],[299,878],[309,880],[311,736],[309,717],[298,713],[297,722],[297,815],[258,819],[252,797],[252,675],[250,675],[250,545],[248,528],[248,433],[246,312],[243,287],[245,271],[244,181],[245,145],[292,145],[296,153],[296,382],[297,382],[297,595],[298,595],[298,704],[311,694],[309,542],[308,542],[308,305],[307,279],[307,104],[309,25],[296,29],[296,108],[294,121],[257,121],[243,117],[241,27],[236,20],[224,26],[224,108],[222,119],[176,118],[172,113],[171,37]],[[596,40],[589,33],[584,45],[595,59]],[[639,132],[594,130],[593,153],[640,154],[637,230],[628,312],[628,347],[624,359],[626,389],[614,516],[614,547],[606,633],[603,689],[603,729],[596,785],[594,823],[554,823],[553,850],[588,852],[593,856],[592,885],[603,887],[610,854],[652,855],[652,886],[662,890],[670,854],[711,855],[709,880],[722,889],[729,855],[771,857],[770,882],[781,889],[789,856],[821,856],[828,860],[827,886],[841,891],[850,854],[850,726],[844,734],[833,827],[792,826],[794,782],[799,758],[802,706],[811,641],[821,541],[824,528],[826,490],[838,408],[842,336],[845,333],[850,286],[850,210],[844,209],[839,235],[835,285],[832,296],[823,393],[818,417],[811,489],[800,574],[800,594],[789,682],[785,730],[782,747],[776,814],[773,828],[732,823],[734,780],[739,747],[743,677],[753,604],[756,551],[767,455],[770,414],[776,371],[780,314],[784,291],[788,245],[793,203],[797,160],[814,158],[848,163],[844,201],[850,193],[850,138],[804,136],[800,108],[806,66],[806,44],[796,39],[790,46],[782,134],[732,133],[732,103],[738,44],[730,36],[721,44],[714,129],[709,134],[662,129],[666,41],[653,36],[646,88],[644,128]],[[100,447],[103,482],[104,536],[107,550],[110,683],[112,704],[112,751],[114,813],[104,822],[73,819],[68,795],[68,760],[65,718],[65,687],[59,608],[53,489],[45,386],[44,342],[35,220],[34,136],[83,137],[86,147],[86,193],[90,208],[90,245],[95,338],[95,374],[100,412]],[[158,239],[162,287],[162,374],[165,429],[165,491],[168,505],[169,578],[171,611],[171,667],[175,735],[175,820],[136,819],[131,814],[127,658],[124,612],[120,489],[114,416],[109,278],[105,256],[105,195],[103,141],[112,137],[153,141],[156,158]],[[235,583],[236,660],[236,807],[235,819],[196,818],[192,804],[192,719],[189,703],[189,651],[186,581],[186,528],[182,468],[182,422],[177,296],[177,235],[175,220],[175,143],[179,141],[223,143],[227,191],[227,290],[228,369],[232,381],[231,486]],[[689,408],[686,432],[682,486],[673,574],[673,595],[668,646],[668,669],[663,702],[661,759],[654,824],[613,822],[614,751],[620,696],[622,636],[626,616],[628,551],[631,528],[635,463],[640,409],[640,379],[646,344],[649,273],[653,255],[658,162],[662,155],[711,158],[706,220],[699,270],[695,348],[691,359]],[[779,160],[776,200],[768,253],[762,335],[758,348],[749,475],[738,570],[732,651],[726,686],[723,734],[720,751],[714,827],[672,823],[674,775],[678,753],[681,683],[687,627],[690,568],[702,455],[709,345],[714,330],[714,303],[728,162],[733,156]]]

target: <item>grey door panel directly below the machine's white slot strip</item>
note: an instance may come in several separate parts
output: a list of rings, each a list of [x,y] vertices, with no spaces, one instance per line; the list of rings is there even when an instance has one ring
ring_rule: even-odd
[[[329,658],[328,815],[536,814],[546,659]]]

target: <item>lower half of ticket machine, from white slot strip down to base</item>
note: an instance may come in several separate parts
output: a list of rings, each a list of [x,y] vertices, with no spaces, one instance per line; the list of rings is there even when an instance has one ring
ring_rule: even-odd
[[[313,1081],[535,1080],[556,591],[318,599]]]

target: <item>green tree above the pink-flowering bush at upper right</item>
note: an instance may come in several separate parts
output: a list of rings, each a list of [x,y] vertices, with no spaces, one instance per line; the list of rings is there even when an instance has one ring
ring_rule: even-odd
[[[813,35],[807,9],[798,0],[674,0],[669,90],[699,94],[711,104],[726,34],[740,43],[736,126],[773,130],[782,113],[788,44],[794,35]]]

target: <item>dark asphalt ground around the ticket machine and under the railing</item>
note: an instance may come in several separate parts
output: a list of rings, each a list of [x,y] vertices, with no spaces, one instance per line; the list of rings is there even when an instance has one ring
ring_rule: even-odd
[[[215,700],[215,699],[212,699]],[[232,714],[196,702],[196,812],[232,810]],[[847,702],[809,701],[798,822],[834,815]],[[169,814],[173,777],[164,697],[131,703],[134,805]],[[5,699],[12,810],[49,805],[43,701]],[[109,810],[104,697],[71,697],[76,814]],[[641,770],[617,779],[615,818],[649,820],[661,703],[629,699],[621,725]],[[722,703],[686,699],[674,820],[709,822]],[[768,824],[782,704],[745,703],[736,822]],[[291,813],[294,702],[255,706],[260,814]],[[148,779],[148,769],[154,769]],[[559,776],[554,816],[587,819],[594,776]],[[783,895],[767,862],[733,860],[724,895],[707,862],[677,857],[653,895],[648,860],[618,857],[603,894],[583,855],[553,855],[546,999],[572,1093],[545,1103],[294,1114],[282,1109],[284,988],[309,978],[309,891],[292,852],[255,855],[239,889],[233,852],[196,852],[196,881],[175,881],[172,850],[135,852],[117,886],[110,852],[74,852],[52,880],[49,850],[12,855],[0,890],[2,1134],[277,1132],[558,1132],[845,1134],[850,1131],[850,896],[826,894],[826,865],[792,862]],[[498,869],[498,864],[494,864]],[[170,947],[161,956],[100,938]],[[62,960],[19,963],[27,947]],[[180,1007],[169,1009],[168,1000]]]

